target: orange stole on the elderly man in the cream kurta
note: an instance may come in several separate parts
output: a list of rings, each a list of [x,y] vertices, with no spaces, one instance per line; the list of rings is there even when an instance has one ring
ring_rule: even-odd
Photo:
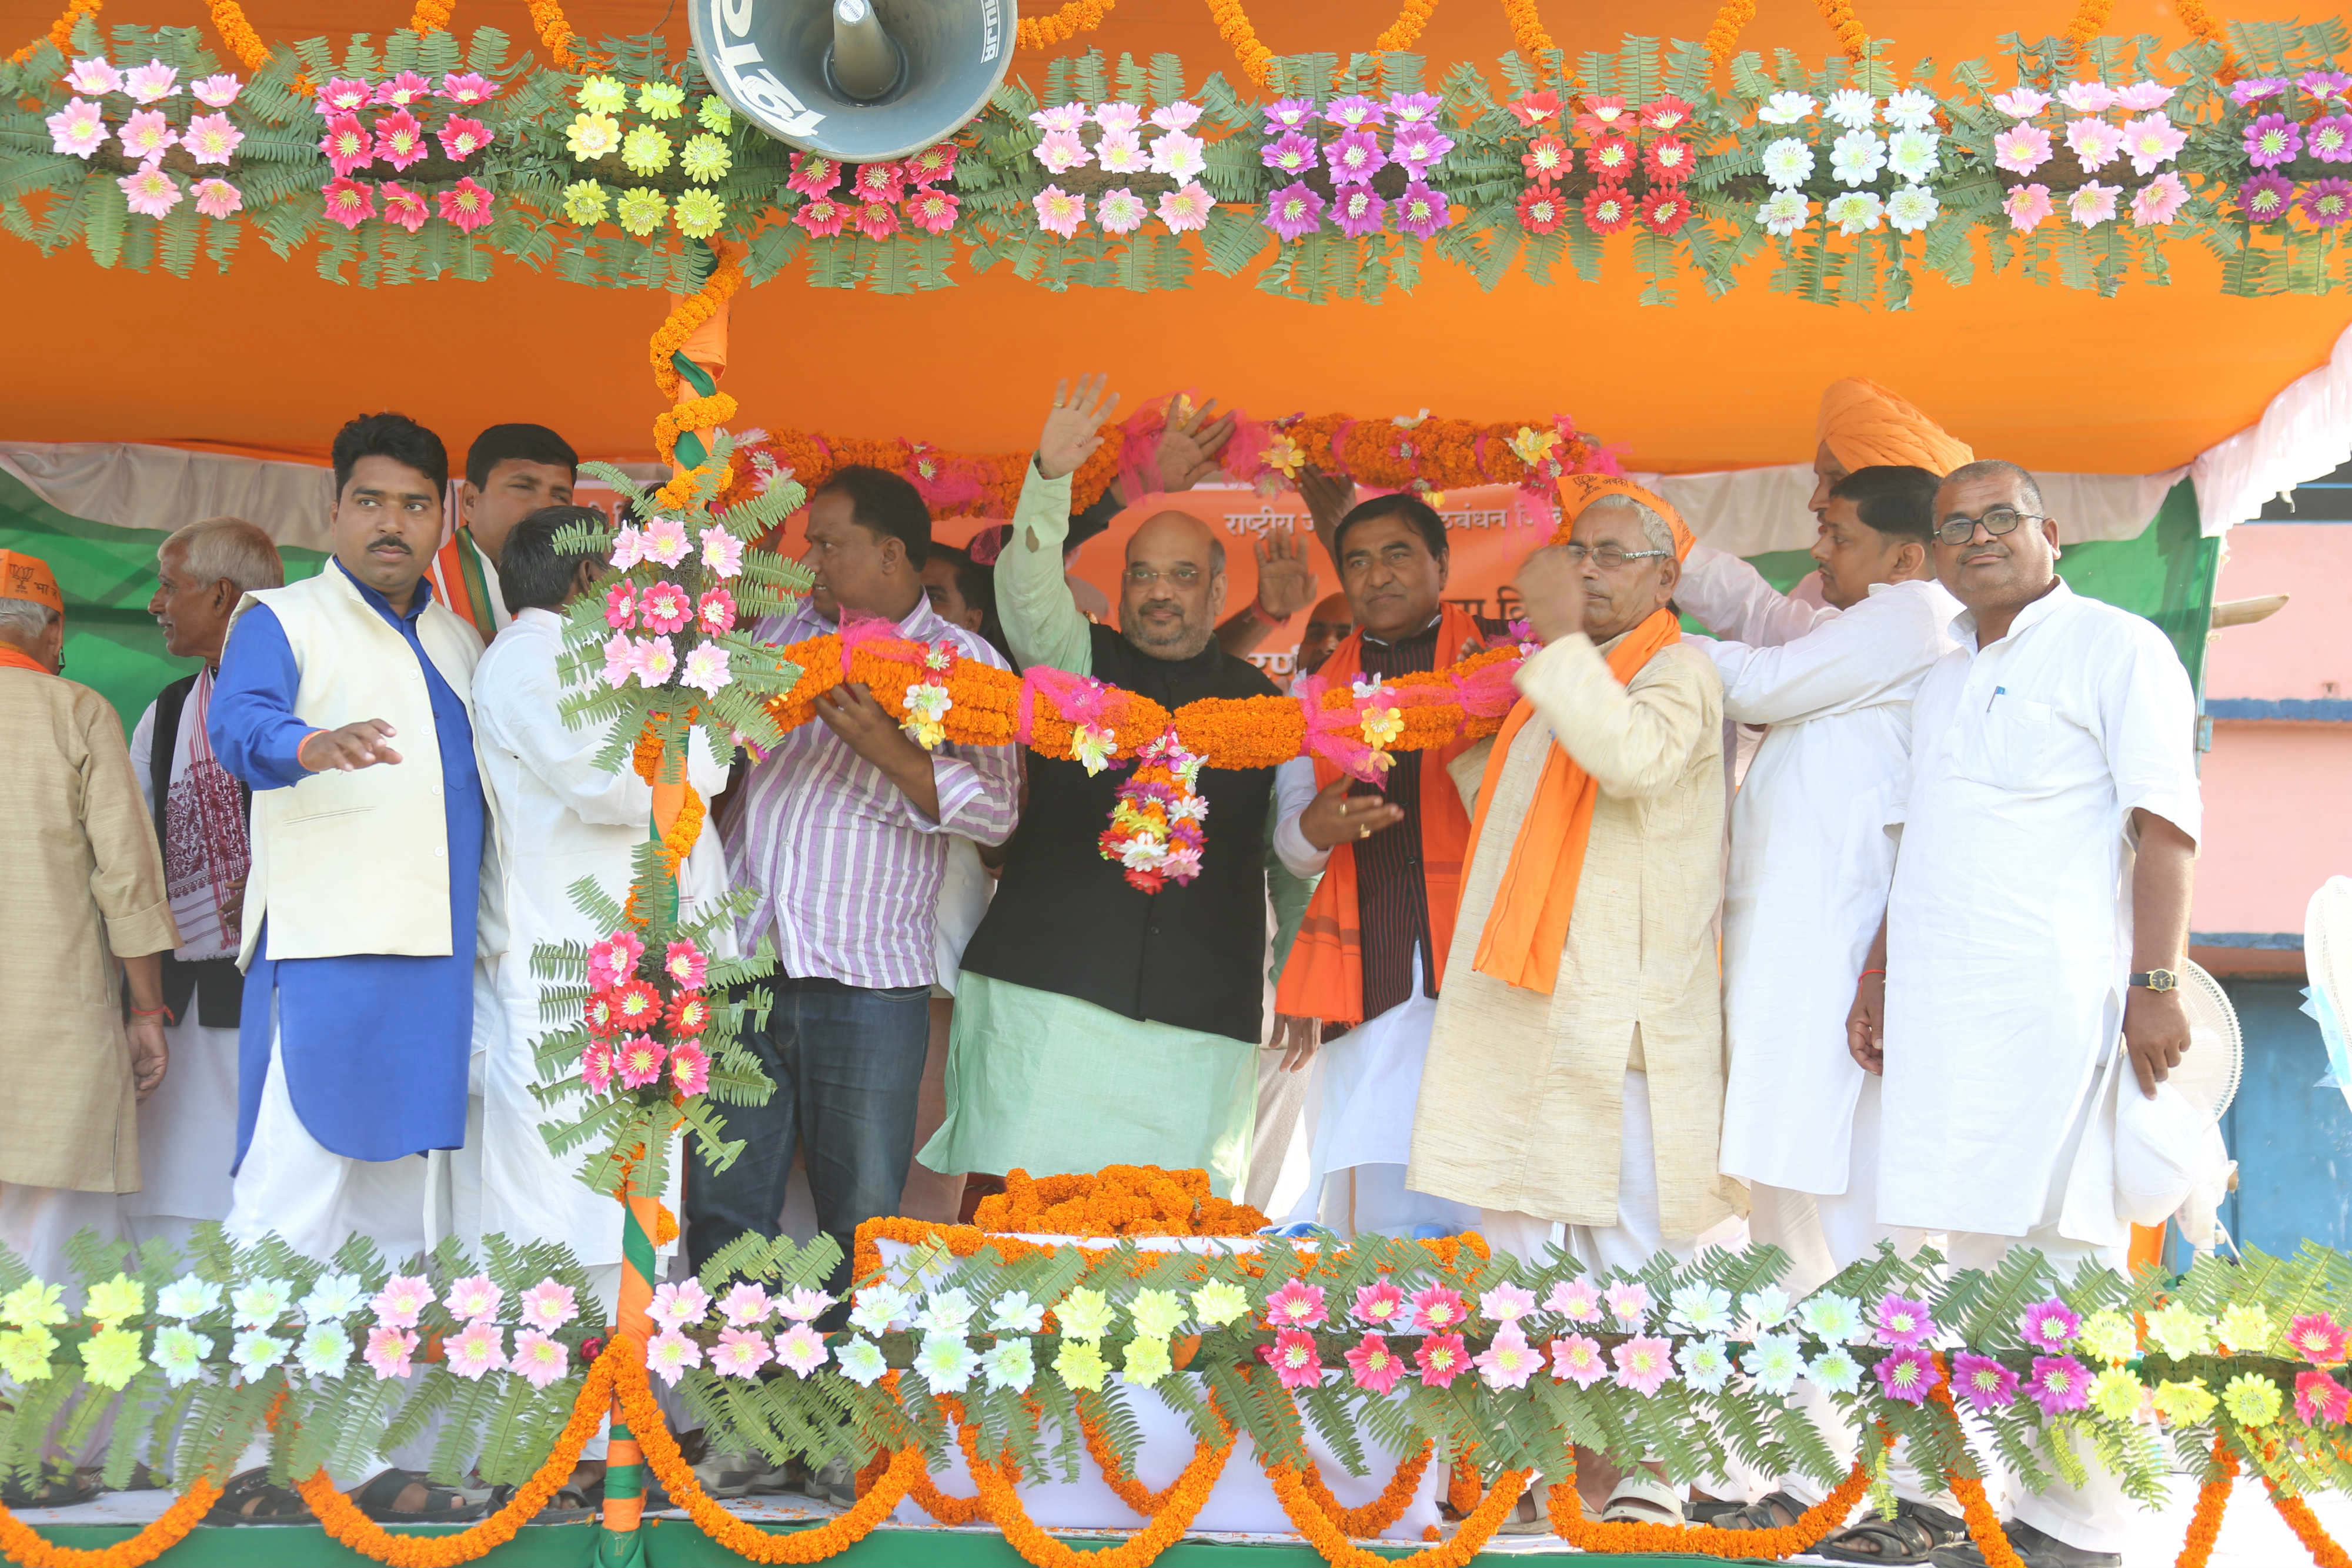
[[[1668,644],[1682,642],[1682,623],[1675,611],[1651,611],[1642,625],[1625,632],[1625,639],[1609,654],[1609,672],[1623,686],[1642,665]],[[1468,867],[1477,856],[1479,835],[1486,832],[1486,809],[1494,806],[1494,785],[1503,776],[1503,759],[1510,757],[1512,738],[1536,717],[1536,705],[1519,698],[1503,731],[1494,738],[1486,757],[1486,776],[1477,790],[1477,820],[1470,823],[1470,846],[1463,853]],[[1536,780],[1536,797],[1512,839],[1510,863],[1503,882],[1494,891],[1494,907],[1486,910],[1486,929],[1477,938],[1479,973],[1494,976],[1522,990],[1550,994],[1559,980],[1559,950],[1569,940],[1569,914],[1576,910],[1576,879],[1585,870],[1585,844],[1592,837],[1592,804],[1599,799],[1592,773],[1555,741],[1543,759],[1543,778]]]

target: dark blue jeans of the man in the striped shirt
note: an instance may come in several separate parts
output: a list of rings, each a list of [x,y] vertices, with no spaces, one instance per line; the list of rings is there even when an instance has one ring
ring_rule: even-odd
[[[915,1157],[929,997],[927,985],[776,983],[767,1027],[743,1032],[776,1093],[767,1105],[722,1107],[724,1135],[743,1140],[731,1166],[710,1171],[701,1154],[687,1157],[687,1258],[696,1269],[746,1232],[779,1234],[797,1140],[807,1150],[816,1225],[842,1248],[826,1288],[840,1295],[849,1286],[858,1225],[898,1213]],[[828,1314],[837,1316],[847,1307]]]

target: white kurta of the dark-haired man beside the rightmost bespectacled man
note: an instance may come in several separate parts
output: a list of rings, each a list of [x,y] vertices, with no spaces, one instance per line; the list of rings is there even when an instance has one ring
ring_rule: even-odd
[[[1780,646],[1708,644],[1724,717],[1771,726],[1731,802],[1726,1175],[1846,1192],[1863,1091],[1846,1009],[1886,912],[1912,693],[1957,614],[1938,583],[1879,583]]]

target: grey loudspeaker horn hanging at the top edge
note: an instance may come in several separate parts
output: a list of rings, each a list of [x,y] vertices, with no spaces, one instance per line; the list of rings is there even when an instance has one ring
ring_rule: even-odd
[[[840,162],[946,141],[1014,52],[1014,0],[694,0],[687,19],[739,115]]]

